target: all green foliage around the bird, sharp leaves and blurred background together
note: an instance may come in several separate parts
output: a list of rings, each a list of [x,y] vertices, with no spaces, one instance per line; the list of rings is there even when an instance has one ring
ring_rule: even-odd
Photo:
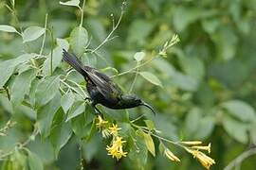
[[[63,169],[65,162],[70,169],[199,169],[191,155],[154,135],[210,142],[213,169],[255,147],[256,1],[125,3],[0,2],[3,170]],[[157,112],[100,108],[126,141],[127,158],[119,163],[107,156],[110,140],[84,101],[82,76],[62,62],[63,48]],[[141,114],[145,120],[137,119]],[[173,151],[181,162],[172,161]],[[254,169],[255,161],[246,158],[241,169]]]

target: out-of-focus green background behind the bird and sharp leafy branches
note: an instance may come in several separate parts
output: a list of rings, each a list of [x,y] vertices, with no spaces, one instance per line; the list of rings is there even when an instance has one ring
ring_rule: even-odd
[[[15,18],[0,1],[0,25],[16,26]],[[155,74],[163,88],[138,77],[134,92],[151,103],[157,115],[152,117],[158,129],[173,140],[200,140],[211,143],[212,169],[223,169],[230,161],[256,145],[256,1],[255,0],[130,0],[115,32],[118,37],[99,51],[101,57],[88,56],[87,62],[97,68],[112,66],[119,71],[132,68],[137,51],[148,54],[177,33],[180,42],[168,51],[166,59],[156,59],[145,66]],[[121,1],[87,0],[84,24],[97,46],[112,28],[111,13],[116,21]],[[16,10],[22,26],[49,26],[55,38],[67,38],[79,25],[77,8],[64,7],[58,0],[17,0]],[[46,39],[46,51],[50,50]],[[0,33],[0,60],[21,55],[24,49],[35,52],[42,39],[24,45],[14,34]],[[1,74],[1,73],[0,73]],[[113,73],[109,72],[109,75]],[[117,81],[129,89],[134,75],[120,76]],[[132,110],[131,112],[145,110]],[[149,115],[150,116],[150,115]],[[33,120],[27,110],[12,112],[9,102],[0,96],[0,125],[9,118],[18,124],[6,137],[0,136],[0,150],[25,141]],[[57,160],[52,146],[40,137],[27,146],[40,156],[46,169],[76,169],[80,153],[76,139],[71,139]],[[156,154],[149,156],[145,169],[203,169],[198,161],[181,149],[173,148],[181,159],[175,163]],[[107,156],[101,135],[83,145],[85,169],[134,169],[127,159],[117,162]],[[0,161],[1,164],[1,161]],[[241,164],[254,170],[256,156]]]

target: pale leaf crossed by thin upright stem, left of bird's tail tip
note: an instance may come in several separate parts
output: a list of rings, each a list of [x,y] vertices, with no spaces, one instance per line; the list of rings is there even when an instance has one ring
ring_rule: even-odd
[[[50,58],[51,58],[51,55],[49,54],[43,66],[43,74],[47,76],[51,74]],[[52,53],[52,72],[54,72],[54,70],[61,64],[62,59],[63,59],[63,48],[61,46],[58,46],[54,48]]]

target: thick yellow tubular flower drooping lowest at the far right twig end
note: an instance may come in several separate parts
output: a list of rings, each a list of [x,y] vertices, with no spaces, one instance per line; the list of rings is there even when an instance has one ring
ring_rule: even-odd
[[[199,150],[187,149],[187,151],[193,155],[193,158],[197,158],[197,160],[207,169],[210,169],[210,166],[215,164],[214,160]]]

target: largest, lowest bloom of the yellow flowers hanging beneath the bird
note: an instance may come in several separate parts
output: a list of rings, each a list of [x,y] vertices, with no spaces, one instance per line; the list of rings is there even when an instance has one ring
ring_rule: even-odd
[[[122,150],[122,144],[126,141],[122,141],[122,138],[117,136],[113,139],[112,145],[106,147],[106,150],[108,151],[108,155],[112,155],[112,158],[117,158],[119,160],[121,157],[126,157],[127,152],[123,152]]]

